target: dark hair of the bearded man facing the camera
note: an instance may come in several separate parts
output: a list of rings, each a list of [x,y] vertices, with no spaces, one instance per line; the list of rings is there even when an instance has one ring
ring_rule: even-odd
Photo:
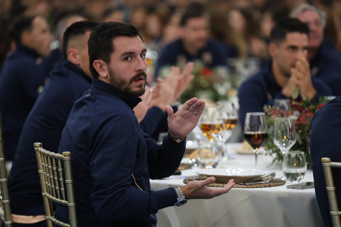
[[[103,60],[107,64],[110,63],[110,55],[114,52],[113,39],[117,36],[139,36],[143,42],[138,30],[129,23],[110,21],[96,26],[90,34],[88,41],[89,68],[92,77],[98,78],[99,76],[96,69],[92,66],[95,60]]]

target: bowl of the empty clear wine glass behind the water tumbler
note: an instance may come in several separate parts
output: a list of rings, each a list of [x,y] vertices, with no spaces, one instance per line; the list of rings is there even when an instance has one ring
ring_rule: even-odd
[[[288,117],[276,117],[273,129],[273,143],[284,155],[296,143],[295,120]]]

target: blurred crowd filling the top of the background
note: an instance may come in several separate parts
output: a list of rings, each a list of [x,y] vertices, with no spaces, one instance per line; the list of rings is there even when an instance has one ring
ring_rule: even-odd
[[[97,22],[128,22],[138,28],[145,45],[155,52],[147,56],[152,64],[163,47],[181,37],[180,20],[192,0],[1,0],[0,1],[0,67],[6,55],[15,49],[10,39],[11,22],[19,15],[41,15],[49,23],[58,47],[65,28],[61,19],[79,15]],[[228,58],[246,62],[256,58],[259,64],[268,59],[267,43],[272,27],[287,17],[292,9],[309,3],[327,14],[325,35],[341,51],[340,0],[201,0],[210,18],[209,36],[228,47]],[[200,36],[200,35],[198,35]],[[201,37],[197,37],[200,39]],[[233,64],[233,63],[232,63]],[[253,74],[257,69],[250,72]],[[153,81],[153,71],[148,74]]]

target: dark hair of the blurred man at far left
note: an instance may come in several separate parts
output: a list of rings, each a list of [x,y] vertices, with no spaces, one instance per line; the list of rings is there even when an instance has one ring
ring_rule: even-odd
[[[24,31],[31,31],[32,22],[37,16],[20,16],[17,17],[10,29],[10,38],[17,44],[21,44],[21,35]]]

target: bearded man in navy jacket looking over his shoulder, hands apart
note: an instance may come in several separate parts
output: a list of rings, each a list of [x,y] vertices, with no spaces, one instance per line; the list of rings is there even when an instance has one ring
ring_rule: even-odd
[[[205,187],[215,180],[210,177],[181,189],[151,190],[149,178],[167,177],[178,168],[186,136],[205,103],[192,98],[175,114],[167,106],[169,134],[158,145],[140,129],[133,112],[145,92],[147,68],[147,50],[137,29],[101,23],[88,48],[92,85],[75,102],[58,150],[72,152],[79,226],[156,226],[159,209],[212,198],[233,187],[233,180],[224,188]],[[68,208],[57,204],[56,216],[67,222]]]

